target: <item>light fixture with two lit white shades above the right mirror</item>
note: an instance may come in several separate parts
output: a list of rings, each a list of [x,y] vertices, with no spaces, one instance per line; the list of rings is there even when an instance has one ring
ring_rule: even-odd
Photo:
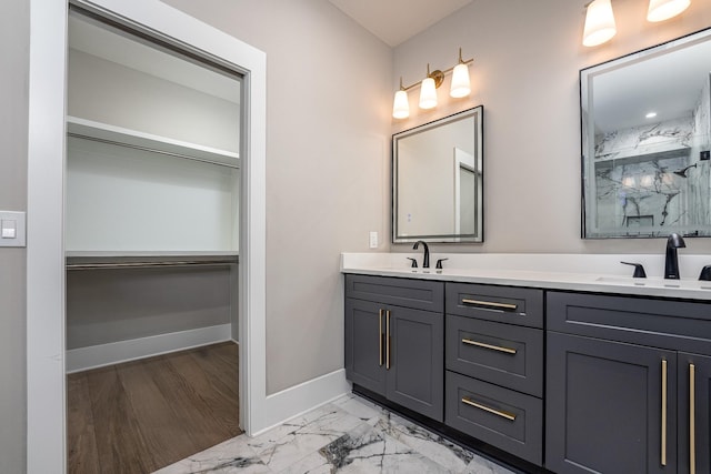
[[[657,22],[673,18],[684,11],[691,0],[649,0],[647,20]],[[585,4],[585,27],[582,43],[597,47],[609,41],[617,33],[611,0],[593,0]]]

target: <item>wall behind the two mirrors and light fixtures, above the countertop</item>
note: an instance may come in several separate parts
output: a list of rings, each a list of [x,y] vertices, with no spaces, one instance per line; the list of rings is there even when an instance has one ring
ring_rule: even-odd
[[[420,80],[427,63],[449,68],[458,48],[470,67],[472,95],[449,99],[431,112],[413,103],[411,128],[472,105],[484,105],[484,234],[481,245],[434,246],[434,251],[661,253],[660,240],[580,239],[579,70],[711,24],[711,4],[692,2],[682,16],[645,20],[649,2],[613,1],[618,34],[607,44],[581,44],[588,0],[474,0],[394,50],[391,91],[400,75]],[[444,85],[449,84],[449,77]],[[394,245],[397,250],[409,246]],[[693,253],[711,241],[688,240]]]

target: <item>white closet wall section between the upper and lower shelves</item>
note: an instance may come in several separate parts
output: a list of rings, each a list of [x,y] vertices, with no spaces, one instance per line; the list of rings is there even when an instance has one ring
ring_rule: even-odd
[[[237,251],[240,170],[70,138],[68,251]]]

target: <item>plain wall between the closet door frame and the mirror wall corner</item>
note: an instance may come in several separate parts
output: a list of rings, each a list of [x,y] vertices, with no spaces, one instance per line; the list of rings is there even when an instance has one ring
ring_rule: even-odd
[[[390,230],[391,49],[326,0],[166,3],[267,53],[267,392],[342,369],[340,252]]]

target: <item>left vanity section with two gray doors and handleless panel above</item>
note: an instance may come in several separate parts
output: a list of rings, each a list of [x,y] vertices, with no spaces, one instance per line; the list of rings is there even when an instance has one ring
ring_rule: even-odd
[[[346,275],[346,376],[441,422],[444,315],[441,282]]]

